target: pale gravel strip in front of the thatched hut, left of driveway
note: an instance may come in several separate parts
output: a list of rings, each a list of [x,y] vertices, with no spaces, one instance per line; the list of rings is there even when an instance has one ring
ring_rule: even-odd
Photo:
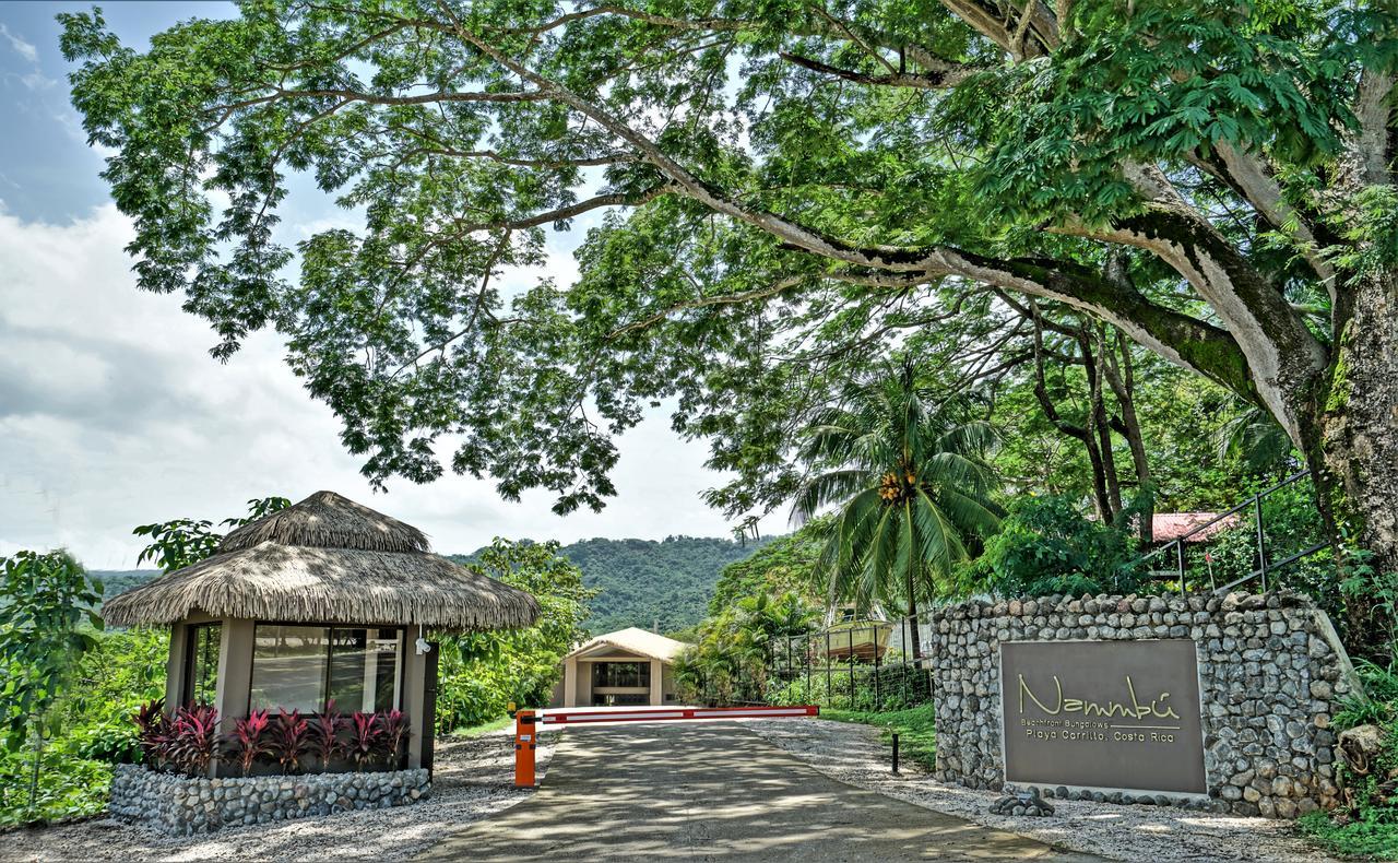
[[[552,737],[554,732],[549,733]],[[538,768],[554,755],[541,741]],[[0,834],[4,860],[401,860],[463,824],[524,800],[516,790],[513,729],[438,740],[432,796],[412,806],[301,818],[171,838],[110,818]]]

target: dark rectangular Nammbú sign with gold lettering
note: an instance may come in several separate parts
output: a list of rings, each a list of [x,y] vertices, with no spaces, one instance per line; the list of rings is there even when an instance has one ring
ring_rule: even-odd
[[[1194,642],[1001,642],[1005,780],[1208,793]]]

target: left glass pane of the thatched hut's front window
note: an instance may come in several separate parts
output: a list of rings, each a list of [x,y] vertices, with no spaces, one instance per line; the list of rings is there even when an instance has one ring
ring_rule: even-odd
[[[329,657],[330,631],[324,627],[257,624],[252,709],[320,711]]]

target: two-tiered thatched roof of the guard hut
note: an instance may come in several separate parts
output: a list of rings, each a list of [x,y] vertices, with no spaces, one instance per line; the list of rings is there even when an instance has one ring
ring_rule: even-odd
[[[256,540],[256,541],[254,541]],[[428,551],[415,527],[330,491],[239,527],[212,557],[102,606],[117,627],[204,611],[284,622],[528,627],[533,596]]]

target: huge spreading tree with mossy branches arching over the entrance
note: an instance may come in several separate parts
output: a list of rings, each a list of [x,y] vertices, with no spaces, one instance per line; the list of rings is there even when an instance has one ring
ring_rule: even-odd
[[[842,361],[1000,291],[1265,410],[1398,568],[1391,0],[249,0],[63,46],[141,287],[219,357],[278,327],[375,478],[454,434],[597,506],[678,396],[716,501],[772,505]],[[295,172],[362,228],[288,248]],[[601,210],[577,284],[502,295]]]

